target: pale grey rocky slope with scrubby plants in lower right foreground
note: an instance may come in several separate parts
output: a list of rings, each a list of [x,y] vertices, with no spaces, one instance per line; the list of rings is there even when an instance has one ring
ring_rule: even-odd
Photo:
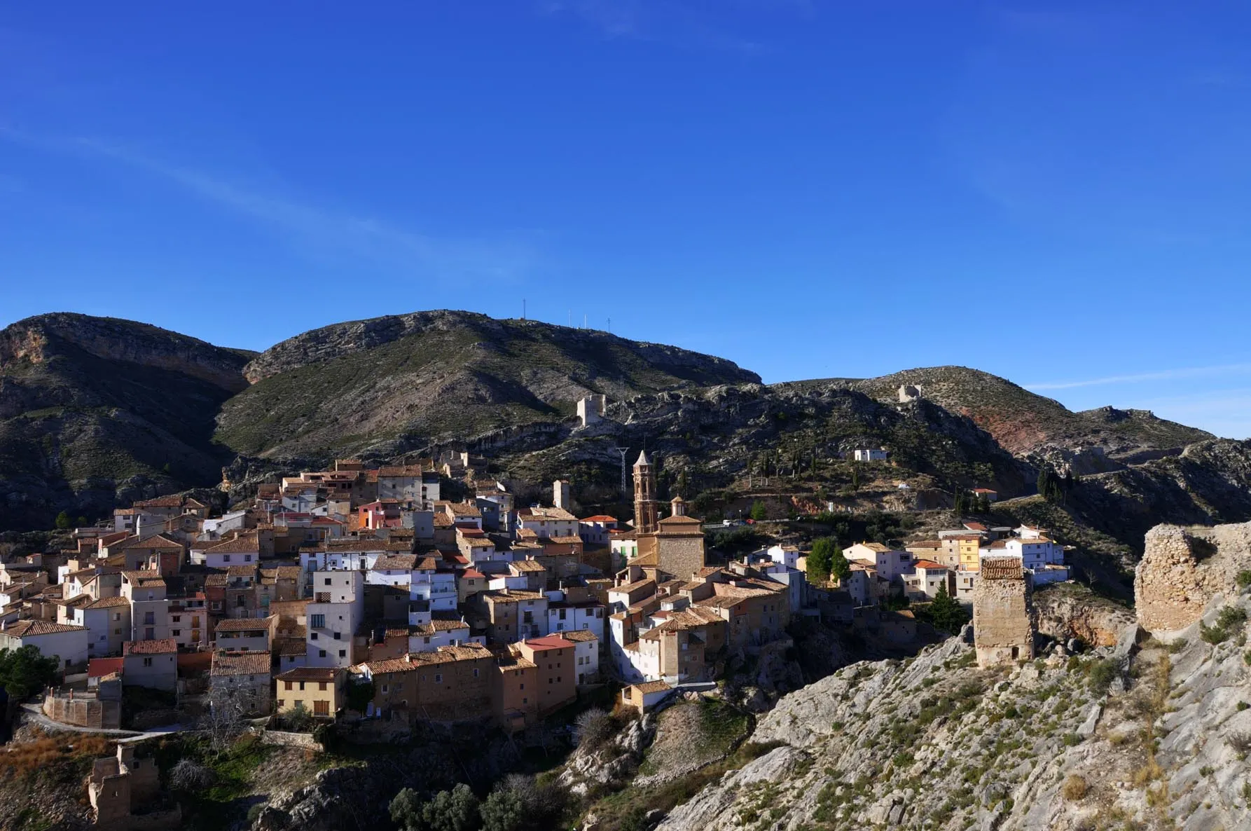
[[[1246,607],[1210,609],[1236,618],[1215,646],[1195,625],[1010,670],[962,640],[853,665],[783,698],[752,736],[777,747],[658,831],[1248,827]]]

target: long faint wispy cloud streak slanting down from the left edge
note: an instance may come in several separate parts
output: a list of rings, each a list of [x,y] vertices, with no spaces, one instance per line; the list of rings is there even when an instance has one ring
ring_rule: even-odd
[[[173,164],[95,138],[49,138],[0,126],[0,138],[46,151],[106,159],[174,184],[233,214],[281,233],[304,253],[338,252],[427,277],[522,275],[533,263],[527,235],[443,239],[378,218],[337,212],[266,191],[241,180]]]

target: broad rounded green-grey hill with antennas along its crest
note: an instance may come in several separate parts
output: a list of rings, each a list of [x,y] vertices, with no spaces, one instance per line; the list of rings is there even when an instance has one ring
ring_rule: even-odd
[[[578,398],[758,382],[729,360],[469,312],[339,323],[266,349],[218,419],[250,456],[387,452],[572,416]]]

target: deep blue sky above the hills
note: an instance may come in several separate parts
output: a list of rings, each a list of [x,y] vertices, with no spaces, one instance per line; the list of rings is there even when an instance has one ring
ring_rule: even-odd
[[[1251,434],[1236,3],[8,4],[0,325],[468,308]]]

